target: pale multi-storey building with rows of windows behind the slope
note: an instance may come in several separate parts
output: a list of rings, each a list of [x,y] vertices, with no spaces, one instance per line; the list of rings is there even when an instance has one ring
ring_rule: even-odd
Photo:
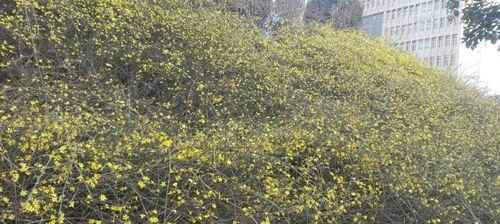
[[[363,4],[361,30],[367,35],[384,36],[429,66],[476,72],[475,53],[461,44],[460,18],[449,15],[446,0],[364,0]]]

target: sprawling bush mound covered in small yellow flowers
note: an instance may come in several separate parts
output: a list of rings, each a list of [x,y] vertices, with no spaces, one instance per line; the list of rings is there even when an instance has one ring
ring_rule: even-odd
[[[0,3],[0,221],[494,223],[499,106],[216,3]]]

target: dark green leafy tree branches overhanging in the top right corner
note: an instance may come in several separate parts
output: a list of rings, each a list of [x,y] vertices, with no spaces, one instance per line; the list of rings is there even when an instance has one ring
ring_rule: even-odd
[[[474,49],[482,41],[492,44],[500,39],[500,4],[489,0],[450,0],[448,8],[454,16],[460,14],[464,24],[463,42]],[[500,48],[498,49],[500,51]]]

